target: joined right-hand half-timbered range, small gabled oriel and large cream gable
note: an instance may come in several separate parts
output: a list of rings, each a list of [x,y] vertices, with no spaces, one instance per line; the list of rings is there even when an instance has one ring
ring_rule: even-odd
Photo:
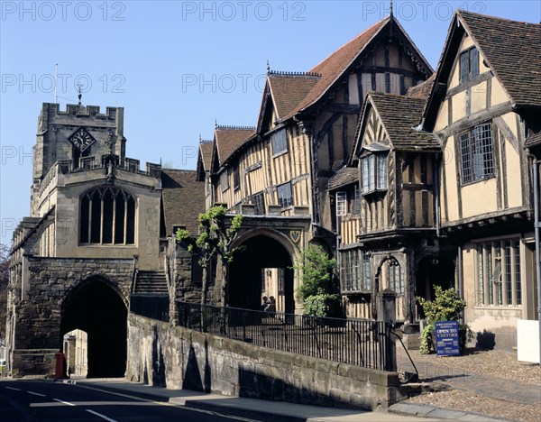
[[[458,11],[434,78],[368,94],[328,187],[348,316],[374,316],[373,295],[393,289],[397,320],[414,323],[440,285],[461,292],[480,344],[515,346],[517,320],[536,318],[540,34]]]

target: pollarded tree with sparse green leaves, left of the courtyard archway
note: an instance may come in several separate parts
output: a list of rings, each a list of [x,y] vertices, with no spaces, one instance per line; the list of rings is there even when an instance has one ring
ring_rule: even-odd
[[[233,217],[231,225],[227,227],[225,215],[227,209],[225,206],[213,206],[205,213],[199,214],[199,235],[197,238],[189,234],[186,229],[177,231],[177,242],[188,243],[188,251],[197,254],[199,265],[203,268],[203,285],[201,291],[201,304],[206,305],[206,295],[208,292],[207,269],[213,258],[219,256],[222,259],[222,290],[220,292],[221,306],[227,304],[227,281],[229,264],[233,261],[234,253],[237,248],[232,248],[231,244],[236,239],[241,226],[243,225],[243,216]]]

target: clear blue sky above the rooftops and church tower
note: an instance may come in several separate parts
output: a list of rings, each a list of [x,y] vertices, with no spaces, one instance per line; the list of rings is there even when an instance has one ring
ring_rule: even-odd
[[[389,1],[1,1],[2,243],[30,214],[41,103],[124,106],[126,155],[195,169],[199,135],[254,125],[266,62],[306,71],[389,14]],[[395,1],[436,68],[455,8],[539,23],[531,1]]]

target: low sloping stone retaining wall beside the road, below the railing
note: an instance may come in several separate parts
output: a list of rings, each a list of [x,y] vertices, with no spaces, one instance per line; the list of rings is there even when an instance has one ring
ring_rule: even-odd
[[[227,396],[383,409],[399,399],[396,372],[281,352],[128,316],[130,381]]]

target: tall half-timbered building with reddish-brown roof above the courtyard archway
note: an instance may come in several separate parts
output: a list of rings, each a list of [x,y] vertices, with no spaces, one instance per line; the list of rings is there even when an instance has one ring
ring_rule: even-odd
[[[269,69],[256,127],[235,138],[231,151],[222,153],[220,138],[239,128],[216,127],[207,206],[223,203],[245,216],[238,244],[247,248],[242,264],[231,270],[231,305],[259,307],[269,274],[278,286],[278,308],[301,306],[294,303],[298,277],[289,267],[309,243],[329,251],[335,245],[335,206],[327,185],[350,158],[364,96],[373,90],[404,94],[431,75],[390,15],[308,72]],[[200,178],[207,148],[200,145]],[[280,259],[273,261],[273,255]]]

